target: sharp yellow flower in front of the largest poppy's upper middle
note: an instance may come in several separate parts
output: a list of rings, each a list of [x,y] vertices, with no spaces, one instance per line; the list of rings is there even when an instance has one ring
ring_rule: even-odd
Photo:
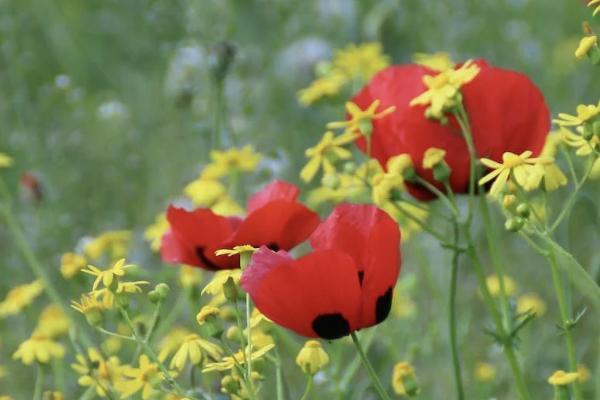
[[[427,91],[410,101],[411,106],[429,105],[425,115],[443,119],[444,111],[454,107],[460,88],[471,82],[479,73],[479,67],[467,61],[458,69],[446,70],[438,75],[426,75],[423,83]]]

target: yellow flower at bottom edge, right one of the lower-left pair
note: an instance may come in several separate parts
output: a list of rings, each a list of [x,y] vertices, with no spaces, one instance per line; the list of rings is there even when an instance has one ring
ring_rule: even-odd
[[[155,387],[165,379],[158,364],[150,362],[145,354],[140,356],[138,368],[123,367],[123,376],[124,378],[116,384],[122,397],[130,398],[141,390],[144,400],[158,393]]]

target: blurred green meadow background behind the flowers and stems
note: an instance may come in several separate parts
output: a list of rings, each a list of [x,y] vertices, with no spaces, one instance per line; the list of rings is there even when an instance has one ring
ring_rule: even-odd
[[[82,236],[108,229],[140,233],[196,177],[211,146],[209,62],[218,42],[228,41],[236,51],[225,86],[229,142],[253,144],[266,154],[253,182],[269,176],[297,182],[304,149],[320,138],[325,122],[343,113],[339,106],[303,108],[295,96],[314,77],[314,64],[334,49],[381,41],[394,63],[410,62],[415,52],[448,51],[456,60],[484,57],[528,74],[556,114],[598,100],[597,71],[573,56],[584,19],[591,19],[591,11],[577,0],[3,0],[0,151],[11,154],[15,165],[2,174],[15,191],[25,171],[41,182],[43,200],[21,201],[18,213],[58,281],[60,254]],[[578,207],[576,236],[570,239],[596,264],[588,246],[598,240],[597,186],[587,205]],[[563,235],[568,239],[570,233]],[[138,260],[158,265],[138,239]],[[417,354],[422,398],[447,398],[453,387],[445,333],[447,255],[424,238],[416,242],[409,247],[419,251],[405,249],[403,275],[418,276],[412,289],[417,315],[382,329],[388,334],[382,333],[381,341],[397,346],[397,352],[381,350],[375,358],[389,381],[395,361]],[[507,256],[518,260],[510,274],[550,306],[549,315],[527,332],[524,346],[528,378],[543,393],[534,397],[549,398],[545,378],[561,366],[563,353],[546,266],[523,244],[506,245]],[[424,264],[441,299],[419,280]],[[0,227],[0,294],[30,279]],[[499,350],[482,332],[474,288],[465,277],[460,340],[469,382],[469,368],[478,360],[504,368]],[[582,359],[596,368],[598,324],[590,318],[576,337]],[[27,398],[32,371],[8,360],[32,322],[26,316],[16,321],[0,321],[0,364],[21,373],[0,380],[6,389],[0,392]],[[538,341],[541,334],[548,341]],[[551,343],[552,350],[540,343]],[[513,398],[502,383],[498,379],[492,392]],[[472,398],[488,398],[478,390],[471,389]]]

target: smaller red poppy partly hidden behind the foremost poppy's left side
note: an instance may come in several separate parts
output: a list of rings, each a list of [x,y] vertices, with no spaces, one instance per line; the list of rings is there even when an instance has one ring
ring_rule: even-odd
[[[297,201],[300,191],[274,181],[248,201],[248,215],[222,217],[210,209],[186,211],[170,206],[171,225],[162,238],[164,261],[209,270],[239,267],[239,257],[215,256],[215,251],[250,244],[290,250],[305,241],[319,224],[319,216]]]

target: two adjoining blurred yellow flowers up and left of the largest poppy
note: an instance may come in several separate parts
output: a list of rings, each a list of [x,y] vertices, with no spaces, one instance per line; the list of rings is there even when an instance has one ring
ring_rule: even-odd
[[[320,72],[307,88],[298,92],[298,101],[308,106],[323,97],[335,96],[347,85],[362,85],[390,64],[380,43],[350,44],[338,50],[331,62],[319,65]]]

